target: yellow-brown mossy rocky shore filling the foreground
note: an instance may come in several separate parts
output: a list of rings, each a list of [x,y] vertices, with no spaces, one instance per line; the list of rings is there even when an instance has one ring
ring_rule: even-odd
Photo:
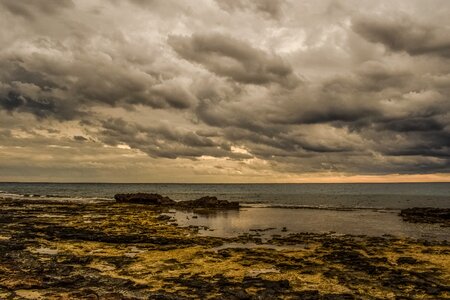
[[[165,208],[0,199],[0,299],[444,299],[446,241],[197,234]]]

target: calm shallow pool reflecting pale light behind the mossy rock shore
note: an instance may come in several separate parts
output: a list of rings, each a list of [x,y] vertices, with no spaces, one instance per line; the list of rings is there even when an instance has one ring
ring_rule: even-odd
[[[335,211],[324,209],[243,208],[209,215],[172,211],[180,226],[199,226],[205,236],[234,237],[258,233],[262,237],[300,232],[450,240],[450,228],[436,224],[404,222],[398,211],[358,209]],[[285,230],[283,230],[285,227]]]

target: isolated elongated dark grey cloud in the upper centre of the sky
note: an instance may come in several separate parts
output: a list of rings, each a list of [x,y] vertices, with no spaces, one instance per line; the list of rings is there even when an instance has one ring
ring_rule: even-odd
[[[227,35],[170,36],[168,43],[184,59],[237,82],[278,83],[287,87],[298,83],[292,68],[280,56]]]

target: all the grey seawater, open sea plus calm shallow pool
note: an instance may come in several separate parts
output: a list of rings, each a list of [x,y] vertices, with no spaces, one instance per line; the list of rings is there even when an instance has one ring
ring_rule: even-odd
[[[389,184],[116,184],[0,183],[0,197],[54,201],[108,202],[117,193],[158,193],[174,200],[217,196],[239,201],[239,211],[213,215],[171,210],[180,226],[200,234],[237,236],[295,232],[450,240],[450,228],[404,222],[400,209],[450,208],[450,183]]]

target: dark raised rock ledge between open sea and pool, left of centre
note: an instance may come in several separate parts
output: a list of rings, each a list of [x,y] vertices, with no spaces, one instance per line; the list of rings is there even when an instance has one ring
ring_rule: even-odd
[[[175,201],[160,194],[135,193],[116,194],[114,199],[118,203],[146,204],[174,208],[239,209],[239,202],[218,200],[217,197],[211,196],[201,197],[196,200]]]

